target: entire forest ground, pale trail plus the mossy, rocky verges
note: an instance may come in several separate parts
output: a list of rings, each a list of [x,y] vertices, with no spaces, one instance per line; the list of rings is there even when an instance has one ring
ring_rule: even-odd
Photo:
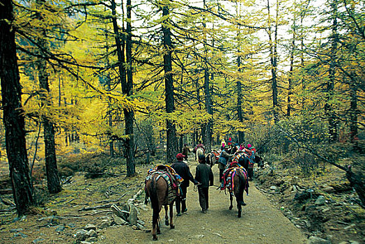
[[[194,160],[189,162],[193,175],[196,164]],[[1,165],[1,169],[4,170],[4,166]],[[134,205],[146,229],[116,224],[115,215],[109,208],[143,190],[150,167],[152,165],[139,165],[134,178],[118,174],[123,172],[121,169],[93,179],[77,173],[68,178],[62,192],[43,196],[43,204],[34,208],[32,215],[23,218],[17,218],[15,211],[6,211],[10,207],[0,203],[0,243],[80,243],[78,235],[86,225],[97,227],[95,237],[86,240],[90,243],[301,244],[306,243],[309,236],[318,236],[334,244],[365,242],[364,209],[355,203],[357,196],[349,189],[343,174],[327,169],[327,173],[314,179],[296,178],[294,175],[300,174],[293,174],[293,169],[272,171],[269,167],[256,170],[249,196],[244,196],[247,206],[242,208],[242,218],[237,218],[235,201],[233,210],[229,211],[229,196],[214,186],[209,192],[210,210],[201,213],[198,193],[191,185],[187,193],[187,213],[180,217],[174,213],[175,229],[169,229],[162,222],[162,234],[158,241],[152,241],[152,210],[143,204],[144,194],[137,197]],[[215,185],[218,185],[217,166],[212,170]],[[45,183],[42,184],[44,187]],[[293,185],[299,186],[300,190],[293,189]],[[42,187],[38,185],[38,188]],[[324,201],[316,203],[320,195]],[[11,195],[1,197],[7,202],[12,200]],[[42,195],[38,194],[38,198]],[[100,207],[88,210],[91,206]],[[161,215],[163,218],[164,210]]]

